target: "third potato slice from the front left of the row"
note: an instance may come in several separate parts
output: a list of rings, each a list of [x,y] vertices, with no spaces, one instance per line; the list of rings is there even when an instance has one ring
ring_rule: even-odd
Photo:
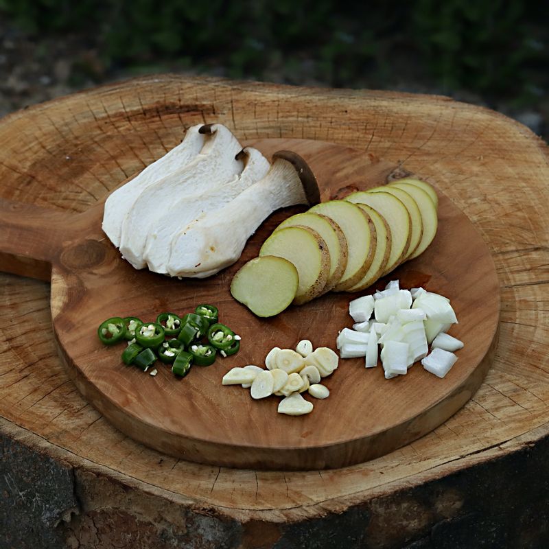
[[[340,281],[347,267],[347,240],[340,226],[325,215],[309,211],[292,215],[281,222],[275,231],[289,226],[307,226],[323,237],[330,253],[330,270],[323,293],[329,292]]]

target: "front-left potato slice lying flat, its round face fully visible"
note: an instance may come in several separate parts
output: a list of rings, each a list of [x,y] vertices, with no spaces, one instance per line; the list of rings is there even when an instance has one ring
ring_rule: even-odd
[[[291,261],[264,255],[255,257],[235,274],[231,294],[257,316],[274,316],[296,296],[299,275]]]

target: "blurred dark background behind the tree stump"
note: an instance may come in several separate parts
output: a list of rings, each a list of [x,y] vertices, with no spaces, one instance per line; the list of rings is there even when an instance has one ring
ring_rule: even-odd
[[[0,0],[0,116],[176,72],[450,95],[549,139],[546,1]]]

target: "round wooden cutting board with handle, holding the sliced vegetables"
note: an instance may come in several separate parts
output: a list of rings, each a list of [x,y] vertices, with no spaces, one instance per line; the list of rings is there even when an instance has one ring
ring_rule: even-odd
[[[293,150],[312,167],[322,200],[381,185],[401,167],[358,150],[299,139],[247,143],[264,154]],[[500,297],[493,261],[467,217],[439,192],[439,232],[430,248],[375,288],[398,278],[401,287],[423,285],[450,299],[459,325],[450,333],[465,342],[458,362],[439,379],[414,366],[384,379],[362,359],[341,360],[325,379],[331,395],[314,401],[303,417],[277,414],[278,397],[253,401],[240,386],[224,387],[233,366],[264,364],[275,345],[300,339],[335,347],[338,330],[351,327],[355,294],[329,294],[277,317],[260,319],[229,293],[233,274],[255,257],[281,220],[303,207],[278,211],[249,240],[237,264],[205,280],[177,280],[122,260],[101,231],[103,201],[69,215],[0,201],[0,268],[51,279],[51,312],[60,356],[84,397],[133,439],[199,463],[253,469],[344,467],[381,456],[440,425],[474,394],[493,358]],[[366,292],[362,292],[364,294]],[[123,344],[103,347],[97,326],[110,316],[154,320],[163,311],[184,314],[213,303],[220,320],[242,336],[240,353],[176,379],[160,365],[151,377],[124,366]]]

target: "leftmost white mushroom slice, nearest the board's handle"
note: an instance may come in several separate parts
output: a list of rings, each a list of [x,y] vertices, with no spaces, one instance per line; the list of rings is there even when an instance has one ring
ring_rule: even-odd
[[[108,196],[104,207],[102,229],[117,248],[120,246],[124,219],[141,191],[154,185],[167,174],[179,172],[200,152],[205,141],[205,135],[198,132],[201,126],[202,124],[191,126],[179,145],[149,164],[145,170]]]

